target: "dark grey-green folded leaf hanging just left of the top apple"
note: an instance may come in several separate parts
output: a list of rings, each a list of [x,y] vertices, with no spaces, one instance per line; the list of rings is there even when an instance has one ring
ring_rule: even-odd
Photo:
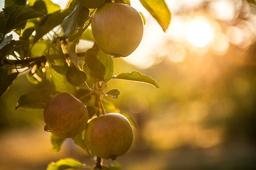
[[[89,9],[83,7],[80,4],[77,4],[72,11],[64,20],[63,20],[63,30],[64,35],[68,36],[73,33],[77,28],[82,28],[84,22],[89,17]]]

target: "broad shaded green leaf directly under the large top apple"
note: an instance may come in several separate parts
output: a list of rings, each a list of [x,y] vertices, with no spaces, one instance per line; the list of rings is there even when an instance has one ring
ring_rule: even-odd
[[[85,62],[97,79],[108,82],[113,76],[114,64],[112,57],[94,46],[85,53]]]

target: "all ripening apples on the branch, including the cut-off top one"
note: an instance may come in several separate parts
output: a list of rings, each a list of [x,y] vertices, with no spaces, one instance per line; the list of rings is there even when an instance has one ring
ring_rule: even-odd
[[[133,7],[105,0],[78,0],[87,8],[97,8],[92,17],[92,34],[100,49],[116,57],[130,55],[143,36],[141,15]],[[133,141],[130,122],[121,114],[109,113],[88,121],[84,103],[69,93],[54,95],[44,108],[46,130],[59,138],[84,133],[87,148],[100,158],[115,160],[125,154]]]

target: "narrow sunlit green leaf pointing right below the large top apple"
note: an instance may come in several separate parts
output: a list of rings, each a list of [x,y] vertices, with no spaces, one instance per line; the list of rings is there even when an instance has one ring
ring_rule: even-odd
[[[148,75],[142,75],[137,71],[133,71],[131,73],[121,73],[120,75],[114,75],[113,78],[124,79],[124,80],[132,80],[138,82],[146,82],[148,84],[154,85],[156,88],[159,88],[159,84],[152,77]]]

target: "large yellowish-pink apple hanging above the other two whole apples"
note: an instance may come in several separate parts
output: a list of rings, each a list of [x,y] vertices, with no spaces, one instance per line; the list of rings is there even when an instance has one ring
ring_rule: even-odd
[[[92,35],[100,49],[118,57],[130,55],[141,42],[144,25],[130,5],[106,3],[92,16]]]

